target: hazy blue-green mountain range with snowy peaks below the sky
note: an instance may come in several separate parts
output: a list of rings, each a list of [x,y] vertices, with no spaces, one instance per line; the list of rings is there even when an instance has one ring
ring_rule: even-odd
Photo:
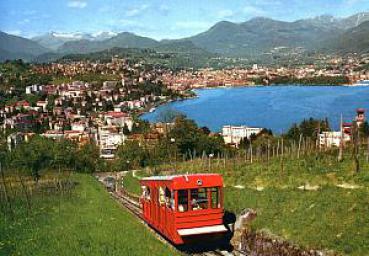
[[[157,41],[129,32],[95,34],[50,32],[26,39],[0,32],[0,60],[39,55],[63,56],[115,47],[151,48],[158,52],[208,52],[230,57],[258,56],[276,48],[333,53],[369,52],[369,12],[347,18],[329,15],[293,22],[256,17],[242,23],[221,21],[183,39]]]

